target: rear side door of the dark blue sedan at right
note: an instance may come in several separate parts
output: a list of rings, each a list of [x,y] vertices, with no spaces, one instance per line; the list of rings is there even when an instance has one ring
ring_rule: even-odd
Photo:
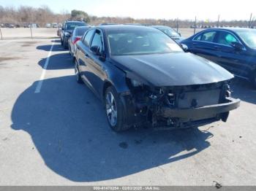
[[[210,61],[216,61],[218,47],[214,44],[217,31],[209,30],[192,39],[191,52]]]

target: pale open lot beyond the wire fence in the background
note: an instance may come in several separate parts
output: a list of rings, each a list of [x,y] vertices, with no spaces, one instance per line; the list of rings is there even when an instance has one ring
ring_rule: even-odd
[[[197,31],[199,30],[201,29],[197,29]],[[180,32],[184,37],[189,37],[194,34],[194,29],[179,28],[178,32]],[[30,28],[1,28],[1,33],[3,39],[31,38]],[[32,36],[37,39],[54,38],[57,37],[57,28],[32,28]]]

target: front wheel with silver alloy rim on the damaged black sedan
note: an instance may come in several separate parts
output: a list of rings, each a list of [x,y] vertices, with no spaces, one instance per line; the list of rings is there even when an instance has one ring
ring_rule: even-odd
[[[129,129],[128,125],[124,125],[124,106],[121,99],[113,86],[105,91],[105,112],[110,128],[116,132]]]

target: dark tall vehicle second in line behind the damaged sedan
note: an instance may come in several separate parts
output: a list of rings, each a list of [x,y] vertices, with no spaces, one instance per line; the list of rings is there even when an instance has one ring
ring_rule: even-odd
[[[80,22],[80,21],[67,21],[64,23],[64,26],[61,28],[61,45],[64,46],[64,48],[68,48],[68,40],[77,26],[87,26],[86,23]]]

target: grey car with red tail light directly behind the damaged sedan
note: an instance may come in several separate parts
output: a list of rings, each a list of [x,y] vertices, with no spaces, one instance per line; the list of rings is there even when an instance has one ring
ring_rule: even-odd
[[[69,38],[69,53],[72,58],[72,62],[75,61],[74,59],[74,53],[76,50],[76,43],[81,39],[83,34],[86,33],[86,31],[90,28],[90,26],[78,26],[74,29],[72,32],[71,37]]]

